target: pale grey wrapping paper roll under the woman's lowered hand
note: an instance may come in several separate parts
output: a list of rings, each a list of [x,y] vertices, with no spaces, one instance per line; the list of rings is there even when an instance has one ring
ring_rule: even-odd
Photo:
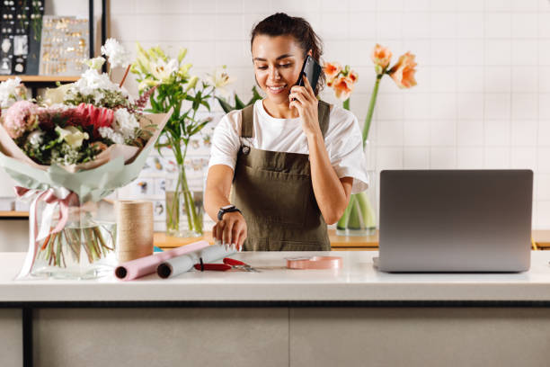
[[[172,278],[181,273],[189,272],[194,264],[200,263],[200,258],[202,258],[203,263],[213,263],[235,253],[235,250],[226,251],[224,246],[211,245],[190,254],[166,260],[163,264],[158,265],[156,273],[164,279]]]

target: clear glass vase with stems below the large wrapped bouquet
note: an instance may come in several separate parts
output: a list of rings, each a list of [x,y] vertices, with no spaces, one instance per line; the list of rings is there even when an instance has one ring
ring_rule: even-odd
[[[72,204],[72,205],[71,205]],[[66,226],[37,244],[31,275],[55,279],[93,279],[116,266],[116,220],[102,218],[98,204],[69,204]],[[39,211],[40,223],[43,212]],[[54,218],[58,218],[55,214]],[[53,226],[56,226],[54,221]]]

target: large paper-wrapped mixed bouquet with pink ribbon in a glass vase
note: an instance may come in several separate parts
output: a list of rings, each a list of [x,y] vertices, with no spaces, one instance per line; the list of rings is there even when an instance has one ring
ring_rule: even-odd
[[[21,89],[16,79],[4,83],[0,90]],[[148,96],[132,101],[94,67],[43,101],[3,95],[0,166],[19,183],[17,196],[31,201],[18,278],[85,279],[111,270],[115,223],[100,218],[97,203],[137,177],[169,114],[144,114]]]

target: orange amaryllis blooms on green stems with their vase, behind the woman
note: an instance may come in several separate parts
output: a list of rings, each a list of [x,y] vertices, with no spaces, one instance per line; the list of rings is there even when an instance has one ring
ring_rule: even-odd
[[[386,74],[394,79],[395,84],[400,88],[410,88],[416,85],[414,73],[416,63],[414,55],[406,52],[399,58],[394,67],[389,67],[392,58],[392,52],[380,45],[376,45],[372,53],[372,61],[375,64],[377,79],[374,85],[372,94],[370,95],[370,103],[368,104],[367,117],[363,125],[362,140],[363,149],[368,148],[368,131],[370,123],[377,103],[378,86],[382,76]],[[346,65],[342,67],[339,63],[326,63],[324,65],[324,73],[327,76],[327,85],[332,87],[337,98],[343,101],[343,108],[350,110],[350,94],[353,92],[353,86],[358,80],[358,75]],[[369,178],[372,178],[374,172],[368,172]],[[350,203],[344,211],[342,218],[338,221],[336,232],[339,235],[373,235],[376,231],[376,216],[372,202],[376,199],[375,190],[372,187],[372,179],[369,180],[369,188],[367,192],[359,192],[350,196]]]

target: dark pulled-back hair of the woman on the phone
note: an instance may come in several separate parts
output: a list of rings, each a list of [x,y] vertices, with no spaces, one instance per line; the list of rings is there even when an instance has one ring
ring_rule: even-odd
[[[288,16],[286,13],[274,13],[268,16],[262,22],[253,26],[250,36],[250,48],[252,49],[254,38],[257,35],[264,34],[267,36],[284,36],[289,35],[297,40],[300,48],[304,50],[304,57],[311,49],[312,58],[315,58],[319,63],[323,55],[323,42],[317,36],[311,24],[304,18],[297,16]],[[315,88],[315,94],[318,94],[324,86],[324,72],[321,72],[319,81]]]

